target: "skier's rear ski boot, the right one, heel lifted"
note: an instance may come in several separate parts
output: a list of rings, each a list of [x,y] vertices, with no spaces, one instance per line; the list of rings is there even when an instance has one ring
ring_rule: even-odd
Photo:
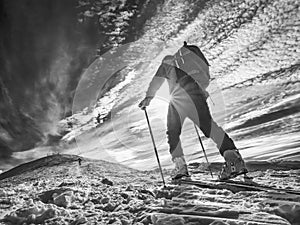
[[[237,149],[227,150],[223,156],[225,164],[219,175],[219,180],[229,180],[241,174],[248,173],[245,162]]]

